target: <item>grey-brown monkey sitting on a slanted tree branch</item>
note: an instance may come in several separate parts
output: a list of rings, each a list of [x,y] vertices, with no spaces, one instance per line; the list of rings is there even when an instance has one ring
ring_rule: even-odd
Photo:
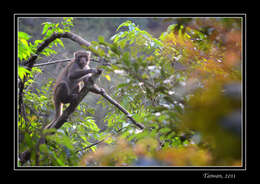
[[[45,129],[48,129],[62,115],[63,104],[73,103],[82,88],[82,83],[91,73],[100,73],[100,69],[89,67],[91,53],[89,51],[77,51],[74,58],[63,69],[54,85],[53,102],[55,117]],[[85,83],[86,80],[84,80]]]

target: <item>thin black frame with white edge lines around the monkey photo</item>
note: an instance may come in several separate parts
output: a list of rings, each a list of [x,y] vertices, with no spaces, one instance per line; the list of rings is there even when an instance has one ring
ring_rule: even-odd
[[[17,32],[17,19],[19,17],[241,17],[243,20],[243,162],[242,162],[242,167],[213,167],[213,166],[206,166],[206,167],[18,167],[17,166],[17,141],[13,141],[9,145],[13,145],[12,148],[15,147],[14,150],[12,150],[12,160],[13,163],[11,165],[11,174],[14,173],[19,173],[20,171],[25,172],[25,171],[174,171],[175,174],[178,174],[182,176],[183,174],[191,174],[191,175],[196,175],[199,178],[203,178],[203,173],[210,173],[210,174],[221,174],[221,173],[245,173],[247,171],[247,140],[246,140],[246,130],[247,130],[247,124],[246,124],[246,84],[247,84],[247,79],[246,79],[246,70],[247,70],[247,64],[246,64],[246,59],[247,59],[247,13],[242,12],[242,13],[41,13],[41,11],[37,13],[23,13],[21,11],[17,10],[11,10],[9,12],[11,14],[11,19],[12,21],[12,38],[13,38],[13,46],[12,46],[12,59],[13,61],[16,61],[17,56],[16,56],[16,50],[17,50],[17,45],[16,45],[16,32]],[[14,109],[13,111],[13,122],[14,122],[14,127],[12,128],[12,132],[15,132],[15,135],[12,138],[15,138],[17,140],[17,130],[16,130],[16,122],[17,122],[17,114],[16,108],[17,108],[17,81],[16,79],[16,74],[17,74],[17,67],[14,62],[13,66],[13,76],[14,80],[12,81],[14,83],[14,90],[13,90],[13,99],[14,99]],[[12,139],[10,139],[12,140]],[[187,173],[188,172],[188,173]],[[67,172],[66,172],[67,173]],[[93,172],[91,172],[93,173]],[[109,172],[110,173],[110,172]],[[143,173],[143,172],[142,172]],[[152,172],[154,173],[154,172]],[[161,172],[160,172],[161,173]],[[165,172],[164,172],[165,173]],[[247,175],[247,174],[245,174]],[[245,176],[244,175],[244,176]],[[233,181],[233,180],[232,180]]]

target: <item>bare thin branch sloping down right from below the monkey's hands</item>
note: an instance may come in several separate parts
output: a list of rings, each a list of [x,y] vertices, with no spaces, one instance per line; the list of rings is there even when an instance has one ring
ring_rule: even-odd
[[[133,118],[132,115],[124,108],[122,107],[118,102],[116,102],[113,98],[111,98],[106,91],[103,88],[99,88],[97,85],[93,85],[93,87],[90,89],[91,92],[97,93],[102,95],[105,99],[107,99],[111,104],[115,105],[120,111],[122,111],[131,121],[134,125],[136,125],[140,129],[144,129],[144,125],[137,123]]]

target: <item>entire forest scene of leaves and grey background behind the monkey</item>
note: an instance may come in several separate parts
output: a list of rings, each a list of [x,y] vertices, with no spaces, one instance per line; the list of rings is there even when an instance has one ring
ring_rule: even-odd
[[[241,166],[242,18],[17,23],[19,166]],[[45,130],[56,78],[78,50],[91,51],[95,83],[129,114],[90,92]]]

